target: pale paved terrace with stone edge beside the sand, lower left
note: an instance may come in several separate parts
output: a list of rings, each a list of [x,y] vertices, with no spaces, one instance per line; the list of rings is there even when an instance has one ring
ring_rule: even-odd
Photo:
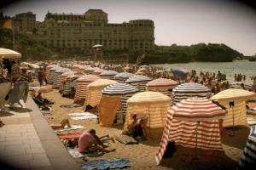
[[[0,161],[11,169],[81,169],[29,96],[25,108],[0,111]],[[7,169],[3,163],[0,169]]]

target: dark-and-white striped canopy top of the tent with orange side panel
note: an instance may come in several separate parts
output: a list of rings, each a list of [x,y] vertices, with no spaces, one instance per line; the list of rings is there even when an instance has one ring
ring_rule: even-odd
[[[109,85],[107,88],[102,90],[104,95],[125,95],[125,94],[135,94],[139,92],[139,89],[131,86],[127,83],[114,83]]]

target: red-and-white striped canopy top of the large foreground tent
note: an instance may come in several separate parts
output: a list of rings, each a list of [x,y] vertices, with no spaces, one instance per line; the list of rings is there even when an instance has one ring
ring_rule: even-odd
[[[212,121],[223,119],[226,111],[210,99],[183,99],[169,110],[173,118],[181,121]]]

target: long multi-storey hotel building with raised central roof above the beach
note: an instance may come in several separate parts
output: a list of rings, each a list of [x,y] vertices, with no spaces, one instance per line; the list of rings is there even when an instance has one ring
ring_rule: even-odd
[[[44,19],[49,47],[90,53],[92,46],[102,44],[107,51],[148,53],[154,50],[154,21],[130,20],[108,23],[102,9],[89,9],[84,14],[48,13]]]

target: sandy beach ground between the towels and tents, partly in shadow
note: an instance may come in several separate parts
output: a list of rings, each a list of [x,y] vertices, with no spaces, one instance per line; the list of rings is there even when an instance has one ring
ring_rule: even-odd
[[[62,104],[73,104],[73,99],[62,97],[56,89],[54,89],[53,92],[43,94],[43,97],[55,101],[55,105],[52,107],[54,110],[52,111],[52,116],[54,118],[48,120],[49,124],[58,124],[61,120],[67,118],[69,113],[79,112],[82,109],[82,107],[61,108],[60,105]],[[69,118],[69,121],[73,125],[83,125],[86,129],[77,129],[69,131],[68,133],[83,133],[84,130],[94,128],[96,129],[98,136],[110,134],[115,137],[121,133],[123,128],[123,124],[113,125],[113,127],[101,127],[96,123],[96,119],[74,121]],[[126,169],[201,169],[198,168],[198,166],[203,167],[202,169],[206,169],[206,167],[207,169],[211,169],[211,167],[212,169],[218,169],[216,166],[220,166],[220,164],[223,164],[225,169],[233,169],[237,166],[242,150],[246,145],[249,127],[237,128],[235,136],[230,136],[228,134],[231,130],[224,130],[221,136],[224,152],[199,150],[199,159],[191,163],[190,160],[193,158],[195,150],[177,146],[177,152],[172,156],[172,158],[164,159],[160,166],[156,166],[154,156],[156,151],[159,149],[162,132],[163,128],[151,129],[148,140],[143,141],[140,144],[125,145],[120,144],[119,141],[116,140],[115,143],[110,144],[110,147],[115,148],[116,151],[99,157],[89,157],[88,160],[128,158],[132,163],[132,167]],[[209,153],[212,153],[212,155]],[[207,158],[207,156],[210,157],[207,161],[201,161]]]

